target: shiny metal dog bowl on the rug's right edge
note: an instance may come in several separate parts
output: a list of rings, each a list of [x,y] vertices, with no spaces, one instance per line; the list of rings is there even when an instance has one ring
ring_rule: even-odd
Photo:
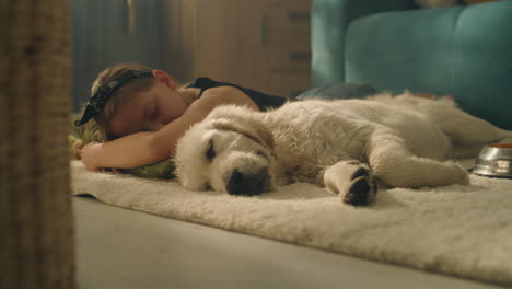
[[[512,178],[512,143],[486,146],[475,162],[473,173]]]

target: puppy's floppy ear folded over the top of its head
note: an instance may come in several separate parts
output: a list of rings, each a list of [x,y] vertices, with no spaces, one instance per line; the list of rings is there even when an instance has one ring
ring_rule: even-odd
[[[274,151],[272,131],[259,122],[248,118],[236,120],[231,118],[219,118],[211,125],[216,129],[232,130],[242,134],[261,146],[267,147],[270,151]]]

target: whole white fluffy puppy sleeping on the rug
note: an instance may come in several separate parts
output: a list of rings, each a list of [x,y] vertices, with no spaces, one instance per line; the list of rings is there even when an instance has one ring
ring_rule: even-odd
[[[379,95],[290,102],[266,113],[220,106],[176,148],[176,175],[188,189],[256,195],[276,185],[326,186],[351,205],[392,187],[468,184],[452,157],[512,137],[447,100]]]

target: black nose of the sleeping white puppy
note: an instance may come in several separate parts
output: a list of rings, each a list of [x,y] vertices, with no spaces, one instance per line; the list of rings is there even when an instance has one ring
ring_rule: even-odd
[[[254,196],[268,189],[268,174],[266,170],[244,174],[238,170],[231,170],[226,174],[226,190],[230,195]]]

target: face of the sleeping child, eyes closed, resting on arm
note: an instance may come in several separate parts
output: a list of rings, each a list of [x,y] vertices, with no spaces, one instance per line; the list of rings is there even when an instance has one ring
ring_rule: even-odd
[[[156,131],[182,116],[187,108],[173,86],[158,83],[119,104],[107,124],[109,134],[124,137],[140,131]]]

